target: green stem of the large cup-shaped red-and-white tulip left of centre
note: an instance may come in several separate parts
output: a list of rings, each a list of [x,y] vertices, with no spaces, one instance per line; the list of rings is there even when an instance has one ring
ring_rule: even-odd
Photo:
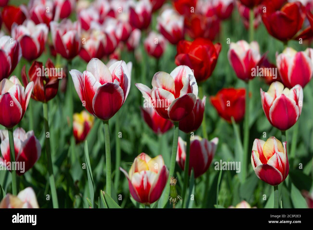
[[[105,166],[106,166],[106,192],[111,196],[111,150],[110,150],[110,130],[109,120],[104,120],[104,137],[105,137]]]

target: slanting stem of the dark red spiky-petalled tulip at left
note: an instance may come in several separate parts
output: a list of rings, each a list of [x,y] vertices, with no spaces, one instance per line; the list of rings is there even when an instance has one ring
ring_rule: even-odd
[[[48,122],[48,105],[47,103],[42,104],[42,108],[44,110],[44,130],[45,130],[45,142],[46,142],[46,154],[48,161],[48,173],[49,173],[49,182],[52,196],[52,204],[53,208],[59,208],[58,204],[58,196],[55,188],[54,174],[53,174],[53,166],[52,166],[52,157],[51,157],[51,146],[50,146],[50,131],[49,131],[49,122]],[[47,137],[48,135],[48,137]]]

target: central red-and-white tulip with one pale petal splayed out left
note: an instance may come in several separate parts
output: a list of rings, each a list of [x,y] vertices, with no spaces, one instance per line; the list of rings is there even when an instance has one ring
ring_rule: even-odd
[[[145,107],[152,106],[163,118],[180,121],[196,104],[198,85],[192,70],[186,65],[176,67],[171,74],[157,72],[152,78],[152,90],[136,83],[145,99]]]

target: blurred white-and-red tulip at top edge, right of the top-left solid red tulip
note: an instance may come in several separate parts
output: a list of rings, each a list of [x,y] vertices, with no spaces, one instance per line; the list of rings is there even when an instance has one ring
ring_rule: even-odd
[[[28,12],[29,18],[34,23],[45,23],[49,27],[53,20],[53,2],[50,0],[31,0],[28,4]]]

